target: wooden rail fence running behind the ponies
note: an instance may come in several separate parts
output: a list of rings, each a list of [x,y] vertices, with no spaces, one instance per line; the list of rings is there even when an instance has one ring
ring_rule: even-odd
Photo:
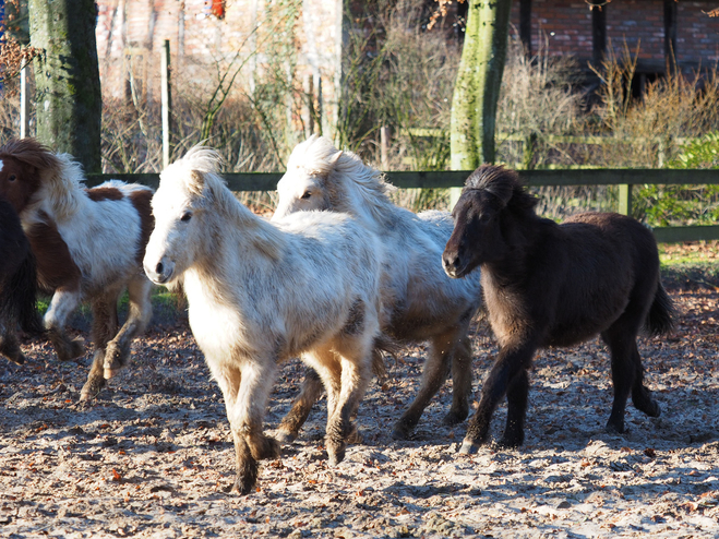
[[[632,188],[637,184],[693,185],[719,183],[719,170],[679,169],[580,169],[580,170],[518,170],[527,185],[619,185],[620,213],[632,213]],[[387,179],[400,189],[460,188],[469,171],[387,172]],[[281,172],[223,175],[232,191],[274,191]],[[87,184],[97,185],[110,178],[159,184],[159,175],[88,175]],[[657,241],[664,243],[719,239],[719,226],[680,226],[654,228]]]

